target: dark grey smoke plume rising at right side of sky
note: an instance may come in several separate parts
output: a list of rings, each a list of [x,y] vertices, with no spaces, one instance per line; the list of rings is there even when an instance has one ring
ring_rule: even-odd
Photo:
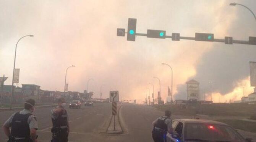
[[[248,5],[254,13],[256,5],[253,1],[239,1]],[[226,35],[233,36],[233,39],[248,40],[248,36],[255,36],[256,21],[253,15],[243,7],[234,7],[239,10],[236,18],[226,29]],[[227,12],[227,11],[226,11]],[[223,16],[225,16],[224,13]],[[219,35],[215,35],[219,36]],[[223,37],[222,37],[223,38]],[[212,82],[212,92],[225,95],[238,87],[237,82],[250,76],[249,62],[255,61],[256,48],[250,45],[223,45],[214,43],[212,48],[204,53],[195,66],[196,75],[190,77],[200,82],[201,94],[210,92]],[[241,86],[243,87],[243,86]],[[186,85],[178,85],[178,92],[175,96],[179,99],[186,98]],[[239,98],[237,98],[239,99]]]

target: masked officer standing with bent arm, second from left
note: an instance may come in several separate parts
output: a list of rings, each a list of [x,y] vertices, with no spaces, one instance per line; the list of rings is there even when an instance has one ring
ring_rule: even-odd
[[[69,124],[68,114],[65,110],[66,101],[64,98],[58,99],[58,106],[51,111],[52,116],[52,141],[68,142]]]

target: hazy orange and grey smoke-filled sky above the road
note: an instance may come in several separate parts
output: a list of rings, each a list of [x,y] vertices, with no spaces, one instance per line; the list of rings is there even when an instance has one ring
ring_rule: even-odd
[[[117,28],[126,28],[128,18],[137,18],[138,33],[147,29],[166,30],[167,35],[195,32],[214,33],[216,38],[232,36],[248,40],[256,36],[256,22],[250,11],[229,6],[232,0],[3,0],[0,2],[0,76],[9,77],[11,84],[14,50],[16,68],[20,68],[21,84],[40,85],[43,90],[64,88],[65,70],[70,65],[67,83],[70,91],[87,89],[99,97],[109,90],[119,90],[120,98],[142,102],[149,95],[146,87],[154,84],[155,96],[161,80],[162,98],[171,85],[173,68],[175,97],[185,96],[184,83],[200,82],[209,91],[231,92],[236,82],[249,76],[249,61],[253,61],[254,46],[226,45],[198,41],[172,41],[136,36],[135,42],[117,37]],[[234,1],[256,11],[254,0]]]

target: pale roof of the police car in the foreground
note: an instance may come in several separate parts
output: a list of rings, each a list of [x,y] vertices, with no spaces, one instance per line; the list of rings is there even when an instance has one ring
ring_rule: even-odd
[[[175,120],[180,121],[182,123],[203,123],[203,124],[227,125],[222,122],[213,121],[213,120],[205,120],[205,119],[175,119]]]

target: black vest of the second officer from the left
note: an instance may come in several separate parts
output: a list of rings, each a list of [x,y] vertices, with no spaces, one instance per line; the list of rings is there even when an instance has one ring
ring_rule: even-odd
[[[53,128],[60,128],[61,126],[68,125],[68,114],[65,109],[62,109],[60,114],[58,114],[56,119],[52,118]]]

